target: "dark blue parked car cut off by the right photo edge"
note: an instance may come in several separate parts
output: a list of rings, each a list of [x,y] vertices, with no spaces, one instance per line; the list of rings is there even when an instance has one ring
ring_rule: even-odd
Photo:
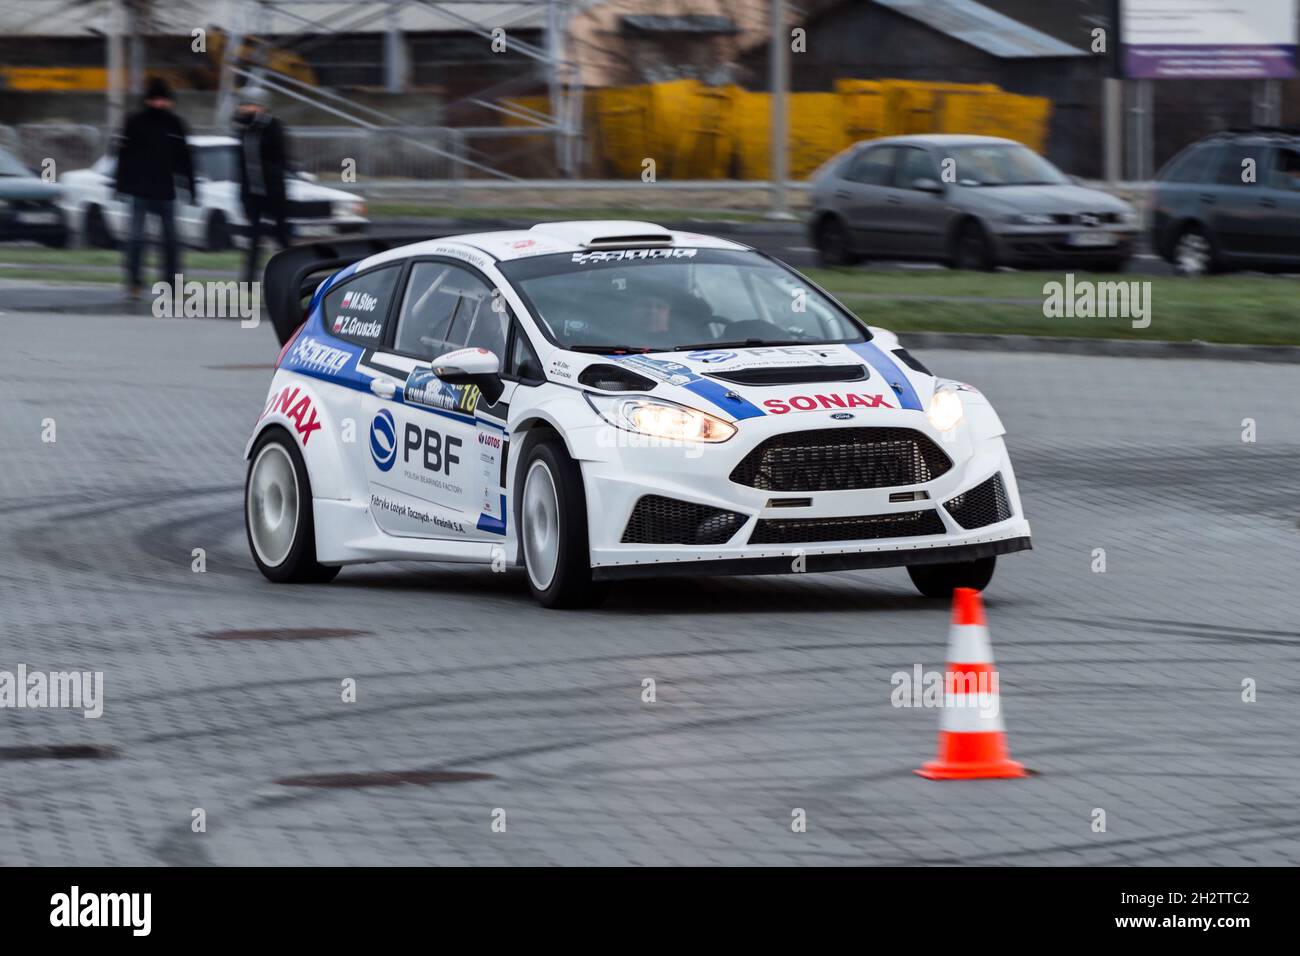
[[[1154,250],[1184,274],[1300,271],[1300,129],[1226,130],[1156,177]]]

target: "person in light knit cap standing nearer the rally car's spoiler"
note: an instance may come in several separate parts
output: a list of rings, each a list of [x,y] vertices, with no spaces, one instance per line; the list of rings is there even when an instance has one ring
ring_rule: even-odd
[[[257,276],[257,246],[263,220],[274,224],[276,242],[289,245],[289,200],[285,195],[285,170],[289,168],[289,146],[285,125],[268,108],[270,94],[260,86],[246,86],[235,111],[239,137],[239,202],[248,220],[248,259],[244,281]]]

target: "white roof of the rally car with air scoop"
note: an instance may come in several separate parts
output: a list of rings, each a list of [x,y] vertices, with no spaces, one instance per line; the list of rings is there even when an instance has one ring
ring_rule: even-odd
[[[358,263],[358,271],[381,263],[420,255],[438,255],[448,245],[486,252],[498,260],[530,259],[566,252],[599,252],[627,248],[728,248],[749,250],[738,242],[715,235],[671,230],[655,222],[637,220],[569,220],[538,222],[532,229],[500,229],[468,233],[441,239],[425,239],[399,246]]]

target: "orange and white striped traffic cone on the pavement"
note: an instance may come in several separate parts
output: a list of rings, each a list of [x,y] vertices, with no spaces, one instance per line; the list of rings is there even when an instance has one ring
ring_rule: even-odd
[[[1006,752],[993,646],[984,623],[984,605],[974,588],[953,591],[939,754],[915,773],[931,780],[1027,775],[1024,765]]]

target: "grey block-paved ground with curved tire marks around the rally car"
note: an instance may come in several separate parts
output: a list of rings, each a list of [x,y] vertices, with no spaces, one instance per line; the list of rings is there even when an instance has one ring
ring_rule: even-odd
[[[104,674],[99,719],[0,709],[0,864],[1300,862],[1287,365],[924,355],[997,403],[1035,531],[988,613],[1036,775],[937,783],[890,676],[948,611],[901,570],[590,613],[450,566],[277,587],[240,512],[269,328],[0,330],[0,670]]]

